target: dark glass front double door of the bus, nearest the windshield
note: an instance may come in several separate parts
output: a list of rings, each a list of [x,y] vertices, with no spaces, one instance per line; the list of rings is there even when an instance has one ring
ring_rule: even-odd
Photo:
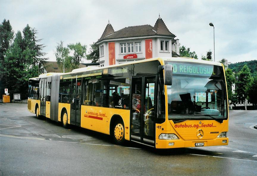
[[[131,141],[155,145],[156,76],[131,81]]]

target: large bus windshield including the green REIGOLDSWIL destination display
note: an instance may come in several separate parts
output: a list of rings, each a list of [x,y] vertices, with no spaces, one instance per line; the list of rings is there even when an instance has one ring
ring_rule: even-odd
[[[173,64],[173,80],[172,85],[167,86],[167,96],[168,118],[174,123],[227,119],[225,78],[220,66]]]

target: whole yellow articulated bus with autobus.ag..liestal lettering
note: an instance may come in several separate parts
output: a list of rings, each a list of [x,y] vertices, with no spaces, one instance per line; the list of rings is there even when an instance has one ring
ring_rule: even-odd
[[[29,79],[28,109],[155,148],[228,145],[224,66],[153,58]]]

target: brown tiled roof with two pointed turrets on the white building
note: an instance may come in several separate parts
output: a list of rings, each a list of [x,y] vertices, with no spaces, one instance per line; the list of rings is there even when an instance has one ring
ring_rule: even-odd
[[[101,42],[102,40],[129,37],[144,37],[152,35],[170,36],[173,38],[176,37],[169,31],[169,29],[163,22],[162,18],[158,18],[154,27],[151,25],[129,26],[120,29],[116,32],[114,32],[112,25],[108,23],[104,30],[104,33],[102,34],[101,38],[97,41],[97,43]]]

